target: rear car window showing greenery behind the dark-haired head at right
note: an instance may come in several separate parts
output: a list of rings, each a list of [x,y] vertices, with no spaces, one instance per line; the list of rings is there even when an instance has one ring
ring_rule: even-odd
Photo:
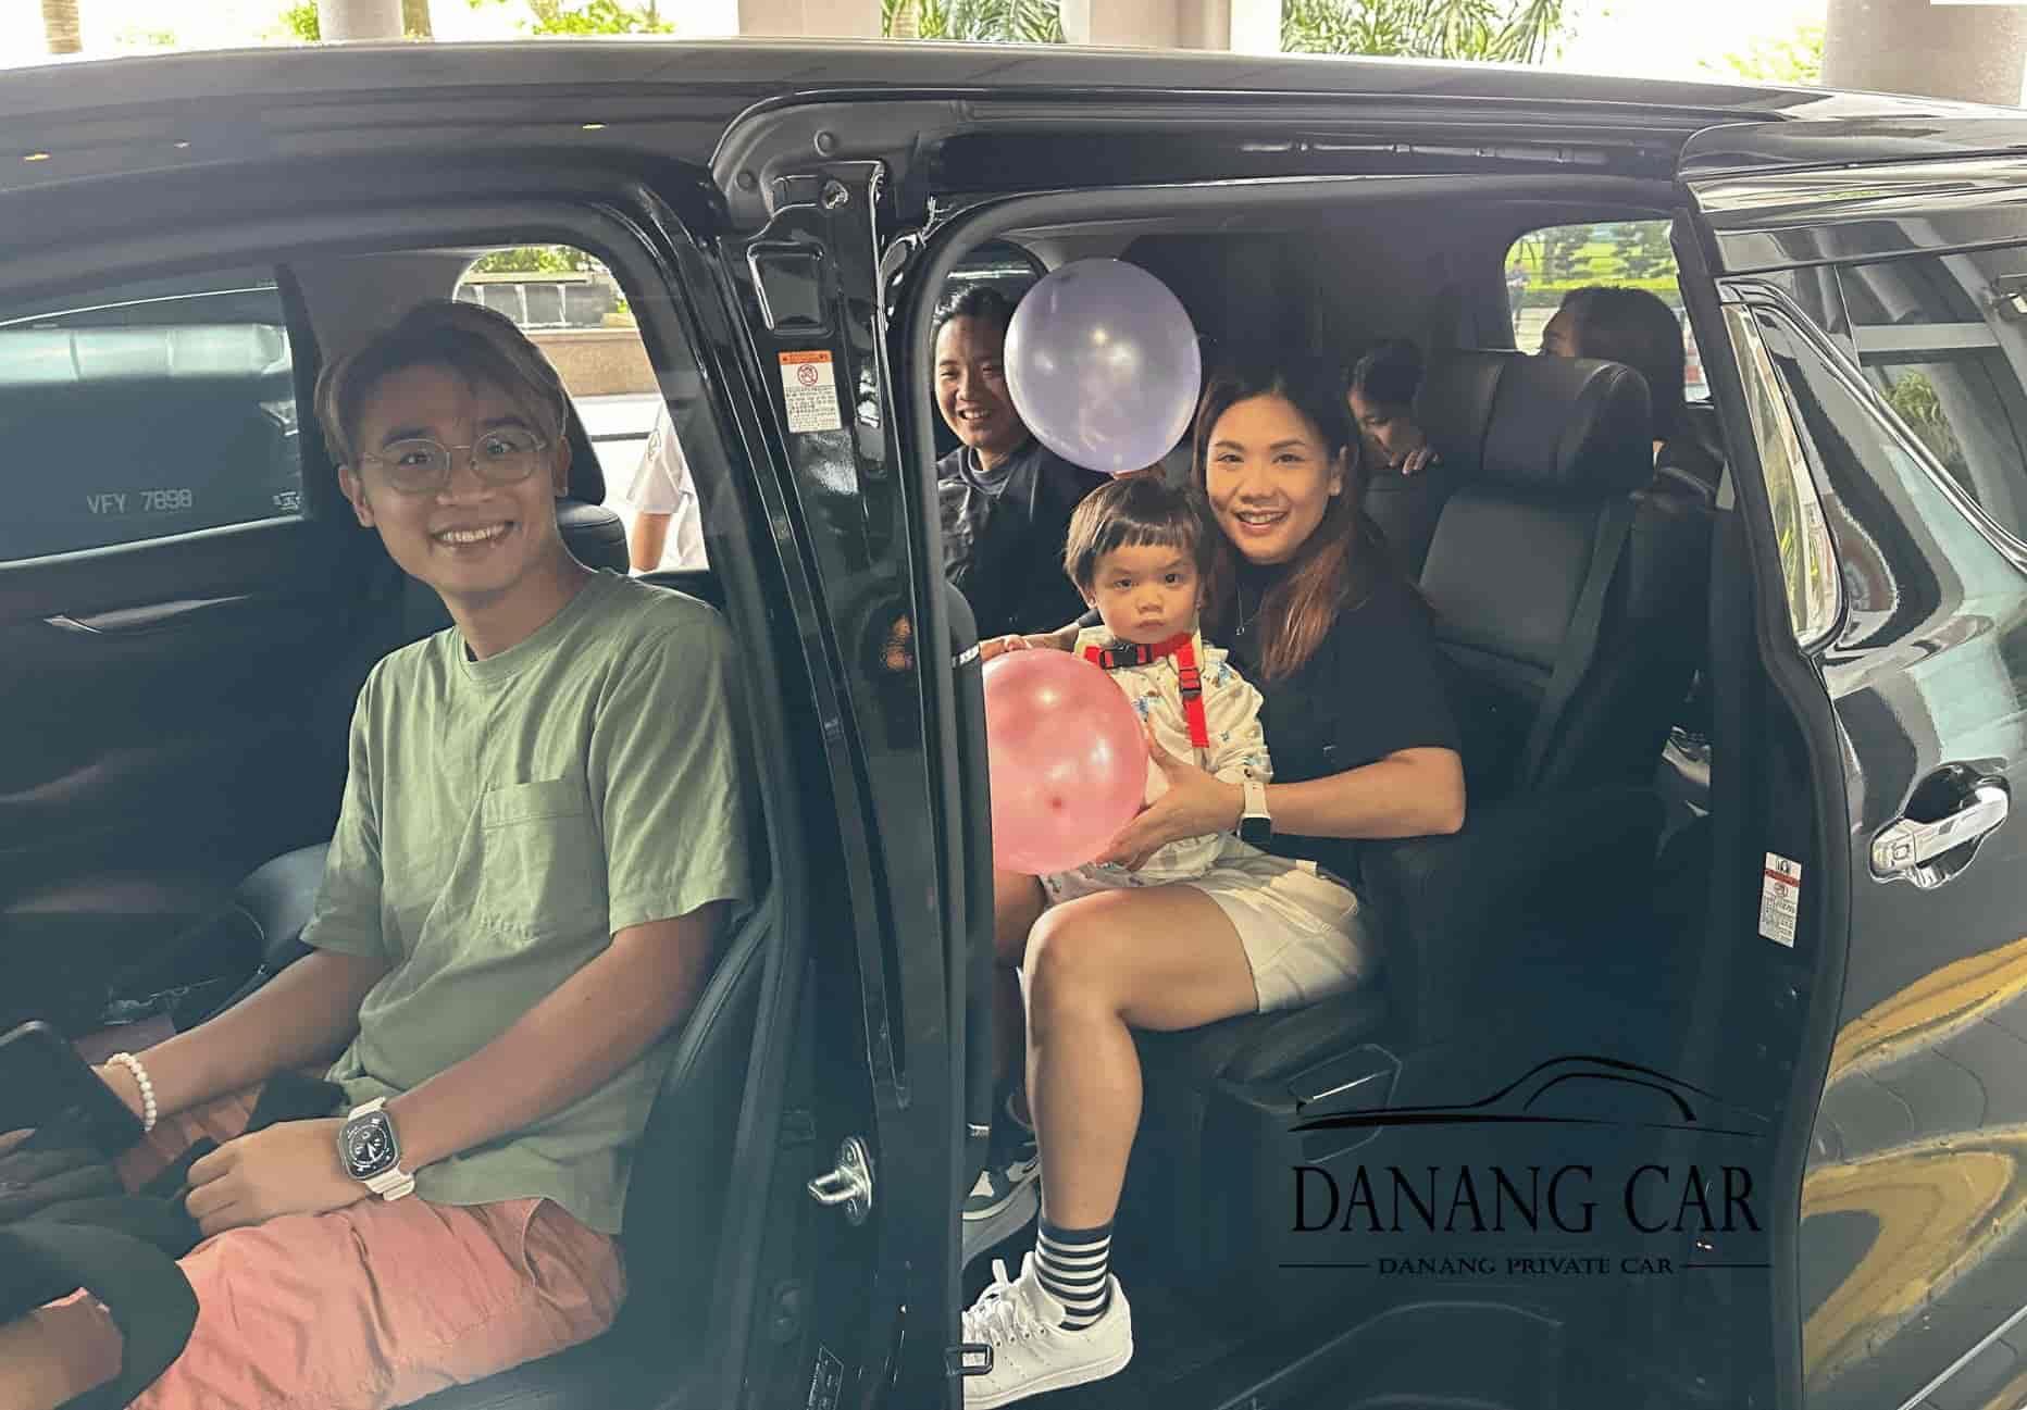
[[[1703,357],[1682,312],[1668,221],[1601,221],[1595,225],[1547,225],[1528,231],[1506,251],[1506,308],[1514,320],[1514,346],[1541,348],[1563,296],[1591,284],[1648,290],[1674,310],[1682,326],[1682,391],[1691,401],[1707,401]]]

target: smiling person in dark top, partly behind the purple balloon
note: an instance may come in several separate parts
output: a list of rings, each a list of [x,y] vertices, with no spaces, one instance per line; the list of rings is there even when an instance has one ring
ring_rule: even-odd
[[[1070,511],[1105,482],[1042,446],[1014,409],[1005,340],[1014,306],[973,288],[936,326],[936,409],[961,442],[936,462],[943,573],[979,640],[1046,632],[1084,610],[1062,575]]]

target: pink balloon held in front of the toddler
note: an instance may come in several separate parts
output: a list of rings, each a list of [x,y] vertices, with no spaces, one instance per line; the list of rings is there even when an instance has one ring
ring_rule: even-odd
[[[985,664],[993,861],[1070,871],[1105,851],[1147,790],[1139,713],[1097,664],[1014,650]]]

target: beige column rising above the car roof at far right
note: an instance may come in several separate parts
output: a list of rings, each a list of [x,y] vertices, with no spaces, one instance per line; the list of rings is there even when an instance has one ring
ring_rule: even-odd
[[[1830,0],[1824,87],[2021,101],[2027,10],[1930,0]]]

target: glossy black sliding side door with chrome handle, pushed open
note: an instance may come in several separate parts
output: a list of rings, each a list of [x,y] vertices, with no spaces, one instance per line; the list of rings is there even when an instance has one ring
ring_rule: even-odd
[[[1731,1090],[1786,1092],[1776,1402],[2013,1406],[2027,188],[1991,152],[2027,124],[1806,128],[1709,130],[1680,168],[1731,460],[1699,1019]]]

